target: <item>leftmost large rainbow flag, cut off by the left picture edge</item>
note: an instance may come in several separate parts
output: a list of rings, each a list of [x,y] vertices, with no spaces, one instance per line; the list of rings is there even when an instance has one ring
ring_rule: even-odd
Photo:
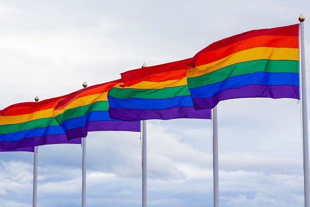
[[[64,130],[54,118],[54,107],[63,98],[65,96],[40,102],[17,103],[1,110],[0,149],[33,151],[33,146],[81,143],[81,139],[68,142]]]

